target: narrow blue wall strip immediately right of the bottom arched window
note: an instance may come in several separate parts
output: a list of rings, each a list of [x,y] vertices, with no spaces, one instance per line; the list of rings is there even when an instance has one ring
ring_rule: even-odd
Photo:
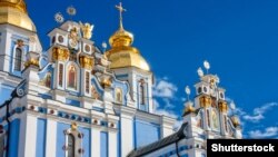
[[[83,134],[83,139],[82,139],[82,147],[85,150],[85,154],[82,157],[90,157],[91,156],[91,131],[89,128],[79,128],[79,131]]]

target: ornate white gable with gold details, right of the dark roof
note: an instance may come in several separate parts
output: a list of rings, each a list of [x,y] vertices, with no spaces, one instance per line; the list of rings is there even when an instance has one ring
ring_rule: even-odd
[[[183,119],[191,125],[191,136],[198,135],[198,129],[206,133],[206,138],[241,138],[240,124],[237,116],[228,115],[226,90],[219,87],[217,75],[209,73],[209,62],[205,61],[207,73],[198,69],[200,81],[195,85],[196,97],[193,102],[187,101]],[[187,89],[189,90],[189,89]],[[188,94],[188,91],[187,91]],[[190,130],[190,129],[189,129]]]

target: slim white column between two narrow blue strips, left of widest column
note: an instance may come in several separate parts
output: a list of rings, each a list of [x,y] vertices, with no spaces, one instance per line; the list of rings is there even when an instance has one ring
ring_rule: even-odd
[[[109,157],[117,157],[117,130],[109,130],[108,133],[108,156]]]

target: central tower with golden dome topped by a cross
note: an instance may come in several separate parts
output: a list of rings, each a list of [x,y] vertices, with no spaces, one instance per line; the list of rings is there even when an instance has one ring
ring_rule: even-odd
[[[106,56],[111,61],[110,68],[116,77],[129,82],[131,91],[128,106],[152,112],[152,72],[140,51],[132,47],[133,35],[123,28],[122,13],[126,9],[121,3],[116,8],[120,14],[119,29],[110,37],[111,49],[106,52]]]

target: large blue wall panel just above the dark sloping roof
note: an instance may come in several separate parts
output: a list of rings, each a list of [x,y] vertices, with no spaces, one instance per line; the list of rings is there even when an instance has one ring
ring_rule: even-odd
[[[135,148],[160,139],[160,126],[135,119]]]

